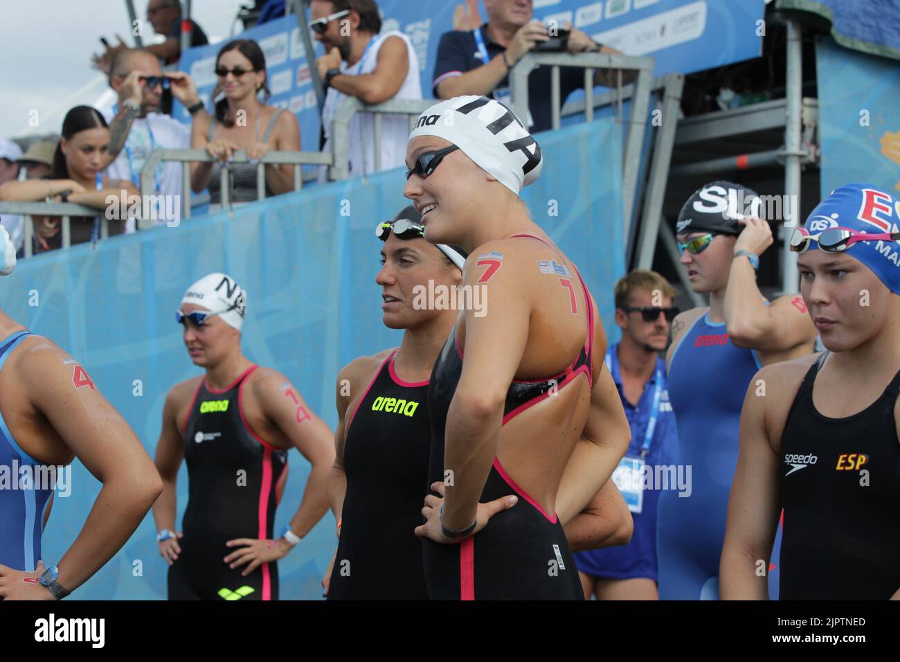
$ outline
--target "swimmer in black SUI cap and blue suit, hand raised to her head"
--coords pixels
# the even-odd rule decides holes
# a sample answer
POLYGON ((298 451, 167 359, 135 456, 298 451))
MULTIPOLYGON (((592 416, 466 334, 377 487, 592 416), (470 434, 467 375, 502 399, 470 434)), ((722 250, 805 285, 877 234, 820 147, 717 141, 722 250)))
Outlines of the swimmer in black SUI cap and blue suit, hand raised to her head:
MULTIPOLYGON (((666 358, 679 463, 692 467, 693 491, 690 498, 671 491, 660 497, 662 600, 718 599, 743 394, 760 367, 814 348, 815 328, 803 299, 784 295, 770 303, 757 286, 759 256, 772 244, 761 202, 745 186, 716 181, 691 195, 678 218, 681 265, 694 292, 709 295, 709 306, 675 318, 666 358)), ((764 568, 773 591, 777 557, 778 541, 771 566, 764 568)))

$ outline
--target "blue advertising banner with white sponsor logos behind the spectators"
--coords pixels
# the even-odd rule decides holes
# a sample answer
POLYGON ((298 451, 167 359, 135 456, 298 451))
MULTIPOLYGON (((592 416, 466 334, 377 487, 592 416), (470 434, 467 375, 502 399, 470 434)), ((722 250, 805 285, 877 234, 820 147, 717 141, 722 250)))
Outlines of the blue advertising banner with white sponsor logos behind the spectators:
MULTIPOLYGON (((454 29, 458 5, 446 0, 379 0, 378 5, 382 32, 400 30, 410 37, 419 56, 422 93, 431 96, 437 45, 441 34, 454 29)), ((534 0, 534 17, 560 27, 571 22, 626 55, 653 56, 655 75, 662 76, 759 57, 764 7, 763 0, 534 0)), ((481 16, 487 21, 483 4, 481 16)), ((303 149, 318 150, 319 109, 297 18, 288 15, 239 37, 259 42, 266 54, 270 103, 296 114, 303 149)), ((180 68, 190 74, 206 102, 216 85, 213 68, 221 45, 188 50, 181 59, 180 68)), ((317 44, 316 57, 321 54, 317 44)), ((189 122, 184 108, 175 105, 175 118, 189 122)))

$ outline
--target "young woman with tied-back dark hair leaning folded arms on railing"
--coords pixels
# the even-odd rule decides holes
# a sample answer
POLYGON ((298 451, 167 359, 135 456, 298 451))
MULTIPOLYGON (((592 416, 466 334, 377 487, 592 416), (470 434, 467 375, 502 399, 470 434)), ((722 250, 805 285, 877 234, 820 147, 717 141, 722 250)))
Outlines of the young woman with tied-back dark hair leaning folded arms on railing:
MULTIPOLYGON (((0 186, 0 201, 69 202, 105 211, 109 195, 119 199, 122 190, 126 195, 139 195, 137 187, 130 182, 101 176, 109 142, 110 131, 103 115, 88 105, 76 105, 62 122, 62 139, 53 156, 49 178, 6 182, 0 186)), ((33 219, 34 251, 58 249, 61 244, 60 217, 34 216, 33 219)), ((72 243, 98 239, 100 226, 101 216, 73 216, 72 243)), ((120 234, 123 228, 124 220, 109 222, 111 235, 120 234)))

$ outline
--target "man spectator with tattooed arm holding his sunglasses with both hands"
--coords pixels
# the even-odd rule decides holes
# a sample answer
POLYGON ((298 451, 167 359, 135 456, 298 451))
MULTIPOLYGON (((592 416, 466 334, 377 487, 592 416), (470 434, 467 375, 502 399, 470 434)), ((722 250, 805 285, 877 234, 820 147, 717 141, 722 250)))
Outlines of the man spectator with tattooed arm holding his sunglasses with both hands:
MULTIPOLYGON (((110 125, 109 166, 105 177, 124 179, 140 186, 140 171, 153 150, 187 150, 191 147, 191 127, 158 113, 164 88, 192 114, 205 113, 193 80, 181 71, 163 74, 159 62, 143 49, 122 50, 112 59, 109 83, 118 95, 112 109, 103 113, 110 125)), ((153 173, 153 190, 142 195, 185 195, 181 164, 171 161, 157 166, 153 173)), ((189 194, 188 194, 189 195, 189 194)), ((161 204, 158 209, 165 209, 161 204)), ((174 208, 180 213, 181 205, 174 208)), ((171 222, 157 213, 157 224, 171 222)), ((133 232, 134 219, 125 225, 133 232)))

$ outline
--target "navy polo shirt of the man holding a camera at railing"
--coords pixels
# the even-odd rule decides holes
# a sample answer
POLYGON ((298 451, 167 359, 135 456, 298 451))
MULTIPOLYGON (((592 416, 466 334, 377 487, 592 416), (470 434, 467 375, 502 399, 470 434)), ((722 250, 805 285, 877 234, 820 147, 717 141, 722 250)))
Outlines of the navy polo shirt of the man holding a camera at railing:
MULTIPOLYGON (((506 50, 488 35, 488 24, 482 25, 484 49, 488 60, 482 59, 482 52, 476 40, 475 31, 462 32, 454 30, 441 35, 437 45, 435 60, 435 76, 431 84, 437 98, 437 86, 450 77, 462 76, 467 71, 482 67, 506 50)), ((538 67, 528 75, 528 110, 534 120, 529 131, 549 131, 553 128, 553 106, 550 100, 550 67, 538 67)), ((566 97, 584 86, 584 69, 577 67, 560 68, 560 103, 565 104, 566 97)), ((503 78, 494 89, 494 98, 509 94, 509 77, 503 78)), ((526 122, 525 118, 519 118, 526 122)))

